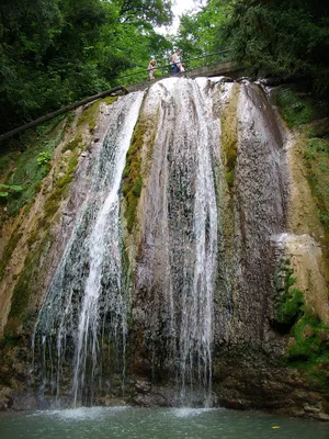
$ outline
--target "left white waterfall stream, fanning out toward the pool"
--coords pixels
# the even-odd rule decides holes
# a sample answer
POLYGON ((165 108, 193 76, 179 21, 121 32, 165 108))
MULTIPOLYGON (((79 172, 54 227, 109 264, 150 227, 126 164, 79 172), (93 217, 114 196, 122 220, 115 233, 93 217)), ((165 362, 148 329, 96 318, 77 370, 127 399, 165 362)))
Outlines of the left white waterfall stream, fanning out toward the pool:
POLYGON ((111 350, 114 342, 125 361, 128 291, 122 269, 118 190, 141 100, 143 93, 133 93, 111 106, 92 185, 35 328, 35 337, 42 337, 43 371, 49 373, 45 383, 49 381, 59 397, 66 374, 71 373, 67 370, 72 369, 75 405, 93 401, 97 380, 102 385, 100 351, 105 344, 111 350))

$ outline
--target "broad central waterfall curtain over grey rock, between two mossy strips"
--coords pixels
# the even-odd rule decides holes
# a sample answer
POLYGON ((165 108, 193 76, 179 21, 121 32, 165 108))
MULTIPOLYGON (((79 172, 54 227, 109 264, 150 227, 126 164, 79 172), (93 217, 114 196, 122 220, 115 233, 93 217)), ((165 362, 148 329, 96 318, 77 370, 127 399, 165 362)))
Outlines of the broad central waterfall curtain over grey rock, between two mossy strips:
POLYGON ((198 403, 207 403, 212 393, 217 268, 213 167, 219 147, 219 121, 212 100, 204 78, 168 79, 150 89, 144 114, 156 117, 159 128, 136 270, 136 296, 138 291, 147 296, 140 305, 137 299, 135 315, 138 318, 144 307, 152 368, 177 376, 182 404, 191 404, 194 392, 200 393, 198 403))

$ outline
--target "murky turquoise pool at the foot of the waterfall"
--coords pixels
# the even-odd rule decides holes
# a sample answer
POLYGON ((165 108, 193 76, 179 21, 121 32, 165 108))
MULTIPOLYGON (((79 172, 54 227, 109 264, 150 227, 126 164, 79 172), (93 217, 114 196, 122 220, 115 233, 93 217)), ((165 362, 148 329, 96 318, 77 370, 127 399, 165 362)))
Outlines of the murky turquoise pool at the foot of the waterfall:
POLYGON ((1 439, 329 439, 329 425, 226 409, 94 407, 0 416, 1 439))

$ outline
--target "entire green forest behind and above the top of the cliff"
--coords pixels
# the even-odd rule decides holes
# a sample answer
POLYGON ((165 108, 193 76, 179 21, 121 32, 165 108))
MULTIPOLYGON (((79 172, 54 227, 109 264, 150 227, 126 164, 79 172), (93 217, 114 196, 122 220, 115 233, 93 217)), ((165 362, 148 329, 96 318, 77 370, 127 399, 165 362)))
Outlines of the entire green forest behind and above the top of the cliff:
POLYGON ((124 82, 152 55, 166 64, 175 45, 184 58, 230 48, 251 75, 307 78, 328 95, 327 2, 195 1, 177 35, 156 32, 171 22, 171 0, 2 0, 0 133, 124 82))

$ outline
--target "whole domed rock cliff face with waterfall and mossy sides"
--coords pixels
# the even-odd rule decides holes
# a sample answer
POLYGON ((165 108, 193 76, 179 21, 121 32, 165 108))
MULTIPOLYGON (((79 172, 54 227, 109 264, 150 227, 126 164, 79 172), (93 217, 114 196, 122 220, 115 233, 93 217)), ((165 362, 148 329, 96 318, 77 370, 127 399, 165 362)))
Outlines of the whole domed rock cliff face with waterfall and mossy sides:
POLYGON ((302 135, 248 81, 171 78, 100 110, 4 234, 2 399, 124 387, 325 419, 327 232, 302 135))

